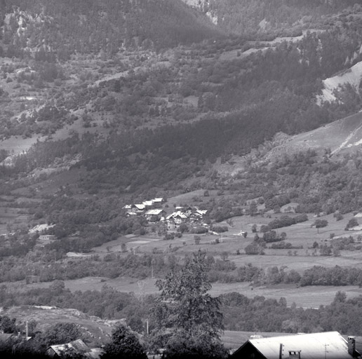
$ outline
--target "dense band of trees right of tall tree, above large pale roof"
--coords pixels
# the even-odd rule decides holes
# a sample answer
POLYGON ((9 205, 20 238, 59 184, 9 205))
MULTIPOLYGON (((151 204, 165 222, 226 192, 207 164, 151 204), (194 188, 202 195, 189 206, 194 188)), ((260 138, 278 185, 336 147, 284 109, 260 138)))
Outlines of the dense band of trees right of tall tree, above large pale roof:
POLYGON ((359 320, 362 314, 362 297, 346 299, 337 292, 330 305, 319 309, 287 306, 285 298, 267 299, 262 296, 248 298, 236 292, 222 294, 222 312, 225 329, 250 332, 328 332, 361 335, 359 320))

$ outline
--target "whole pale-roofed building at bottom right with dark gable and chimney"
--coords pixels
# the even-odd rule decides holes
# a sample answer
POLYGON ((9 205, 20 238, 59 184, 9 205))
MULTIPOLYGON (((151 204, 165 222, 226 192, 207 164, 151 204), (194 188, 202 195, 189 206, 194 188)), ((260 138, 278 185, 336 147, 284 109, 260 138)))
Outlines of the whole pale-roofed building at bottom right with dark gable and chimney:
POLYGON ((361 359, 354 337, 338 332, 295 334, 249 339, 232 354, 234 359, 361 359))

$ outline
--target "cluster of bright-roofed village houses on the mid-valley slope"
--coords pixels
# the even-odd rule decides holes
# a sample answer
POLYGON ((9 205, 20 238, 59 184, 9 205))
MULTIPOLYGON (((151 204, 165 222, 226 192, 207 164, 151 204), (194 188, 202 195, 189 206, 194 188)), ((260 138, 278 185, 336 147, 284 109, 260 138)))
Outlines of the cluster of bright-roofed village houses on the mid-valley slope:
POLYGON ((127 217, 145 216, 149 223, 164 222, 167 224, 169 231, 185 222, 200 223, 208 212, 195 206, 187 206, 175 207, 175 212, 167 215, 166 211, 161 208, 163 203, 165 203, 163 198, 154 198, 138 204, 125 205, 123 210, 126 210, 127 217))

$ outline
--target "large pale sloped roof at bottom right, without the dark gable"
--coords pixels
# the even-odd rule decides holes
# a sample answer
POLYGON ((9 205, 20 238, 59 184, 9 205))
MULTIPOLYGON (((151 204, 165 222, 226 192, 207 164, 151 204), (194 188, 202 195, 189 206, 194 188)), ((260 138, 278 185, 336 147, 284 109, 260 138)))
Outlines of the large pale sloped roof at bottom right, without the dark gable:
MULTIPOLYGON (((246 344, 248 343, 253 344, 257 351, 267 359, 279 359, 281 344, 283 344, 283 355, 288 355, 288 351, 301 351, 301 358, 303 359, 325 359, 326 353, 328 359, 352 358, 348 353, 347 340, 339 332, 249 339, 246 344)), ((242 348, 243 346, 238 351, 241 351, 242 348)))

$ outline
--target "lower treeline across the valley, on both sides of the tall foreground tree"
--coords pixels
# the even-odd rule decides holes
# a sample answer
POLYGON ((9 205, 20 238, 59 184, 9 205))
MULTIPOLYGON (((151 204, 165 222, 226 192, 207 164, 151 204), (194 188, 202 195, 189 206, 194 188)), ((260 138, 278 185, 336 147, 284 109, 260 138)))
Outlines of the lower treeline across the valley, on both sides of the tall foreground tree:
MULTIPOLYGON (((60 281, 48 288, 27 292, 1 287, 0 297, 5 306, 48 305, 74 308, 101 318, 126 318, 128 325, 140 333, 145 332, 142 320, 149 318, 156 299, 154 295, 141 298, 138 294, 117 292, 107 286, 100 291, 70 292, 60 281)), ((362 315, 361 296, 347 299, 346 294, 337 292, 330 305, 319 306, 319 309, 297 308, 294 303, 288 306, 285 298, 248 298, 236 292, 221 294, 219 299, 225 330, 289 333, 337 330, 341 334, 362 334, 358 321, 362 315)), ((150 322, 151 332, 152 327, 150 322)))

